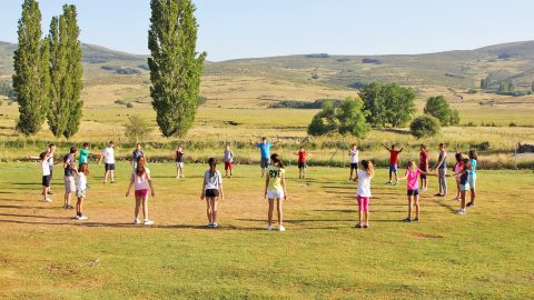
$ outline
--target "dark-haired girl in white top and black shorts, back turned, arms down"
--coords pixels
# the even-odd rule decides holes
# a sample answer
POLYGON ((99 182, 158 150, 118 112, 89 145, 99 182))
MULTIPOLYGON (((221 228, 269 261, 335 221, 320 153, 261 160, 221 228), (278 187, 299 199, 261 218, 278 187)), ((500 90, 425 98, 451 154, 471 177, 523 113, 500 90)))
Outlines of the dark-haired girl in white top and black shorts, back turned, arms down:
POLYGON ((206 199, 206 213, 208 214, 208 228, 217 228, 217 200, 224 199, 222 177, 217 171, 217 160, 210 158, 208 160, 209 170, 204 173, 202 193, 200 199, 206 199))

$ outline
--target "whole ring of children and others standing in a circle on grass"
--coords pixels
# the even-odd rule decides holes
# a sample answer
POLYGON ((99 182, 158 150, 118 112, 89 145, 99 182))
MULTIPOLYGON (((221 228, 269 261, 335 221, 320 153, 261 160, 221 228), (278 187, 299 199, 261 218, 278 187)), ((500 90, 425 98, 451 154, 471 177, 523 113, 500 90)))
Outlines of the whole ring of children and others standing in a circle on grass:
MULTIPOLYGON (((266 138, 263 138, 261 142, 258 142, 256 147, 260 149, 260 167, 261 167, 261 177, 266 178, 265 181, 265 198, 268 200, 268 216, 267 216, 267 229, 273 230, 273 214, 275 202, 277 207, 277 217, 278 217, 278 230, 285 231, 283 226, 283 200, 288 199, 286 190, 286 179, 285 179, 285 164, 278 154, 270 154, 270 148, 276 143, 267 142, 266 138)), ((108 178, 111 179, 111 183, 115 183, 115 150, 113 142, 110 141, 108 147, 101 153, 91 153, 89 151, 89 144, 83 143, 83 148, 79 151, 78 156, 78 166, 76 164, 76 156, 78 154, 78 149, 72 147, 68 154, 63 157, 63 182, 65 182, 65 209, 75 209, 71 202, 72 193, 76 193, 77 204, 76 204, 76 217, 77 220, 87 220, 88 217, 83 214, 83 199, 86 198, 87 190, 89 188, 87 183, 87 177, 89 176, 89 156, 100 157, 99 164, 105 162, 105 177, 103 184, 107 183, 108 178), (76 180, 75 180, 76 176, 76 180)), ((439 182, 439 192, 436 193, 438 197, 445 197, 447 194, 446 177, 455 177, 457 183, 457 196, 455 200, 461 200, 461 208, 456 211, 457 213, 465 213, 466 207, 475 206, 475 182, 476 182, 476 166, 477 166, 477 154, 475 150, 471 150, 468 158, 464 158, 459 152, 456 152, 456 164, 453 168, 453 173, 447 174, 447 152, 443 143, 439 144, 439 154, 437 158, 437 163, 434 168, 429 169, 429 159, 428 152, 424 144, 421 146, 419 152, 419 163, 413 160, 408 161, 405 176, 399 178, 397 176, 399 153, 403 151, 403 148, 397 150, 396 146, 390 148, 384 146, 389 151, 389 181, 387 184, 398 184, 399 181, 407 181, 407 200, 408 200, 408 214, 404 219, 406 222, 418 221, 419 220, 419 190, 426 191, 427 189, 427 177, 436 176, 438 177, 439 182), (437 170, 437 172, 436 172, 437 170), (434 171, 434 172, 433 172, 434 171), (395 182, 392 181, 393 177, 395 182), (421 184, 419 184, 421 180, 421 184), (471 191, 471 202, 466 203, 466 193, 471 191), (413 218, 413 207, 415 206, 415 218, 413 218)), ((50 144, 48 149, 42 152, 38 159, 42 170, 42 194, 44 202, 51 202, 49 194, 52 194, 50 191, 50 182, 52 178, 53 166, 58 162, 55 162, 53 156, 56 151, 56 146, 50 144)), ((370 192, 370 181, 375 176, 375 169, 370 160, 359 161, 359 151, 356 144, 352 144, 349 149, 349 161, 350 161, 350 177, 349 181, 357 182, 356 198, 358 203, 358 223, 357 228, 369 228, 369 201, 372 198, 370 192)), ((306 177, 307 168, 307 156, 304 147, 300 147, 299 151, 295 152, 295 156, 298 157, 298 169, 299 178, 303 179, 306 177)), ((176 151, 176 168, 177 168, 177 178, 184 178, 184 157, 185 151, 182 147, 178 147, 176 151)), ((29 159, 37 159, 36 157, 28 156, 29 159)), ((225 163, 226 177, 233 177, 233 161, 234 152, 231 151, 229 144, 226 146, 224 151, 222 160, 225 163)), ((147 168, 147 157, 142 151, 141 144, 138 143, 136 149, 131 154, 131 164, 134 167, 132 173, 130 176, 130 183, 126 197, 130 196, 130 191, 134 188, 136 206, 135 206, 135 224, 140 224, 139 213, 142 208, 144 221, 146 226, 154 224, 148 218, 148 196, 155 196, 155 189, 152 180, 150 177, 150 170, 147 168)), ((217 170, 218 160, 216 158, 210 158, 208 160, 209 169, 204 173, 204 182, 200 199, 206 200, 207 204, 207 218, 208 227, 217 228, 217 201, 218 199, 224 198, 222 189, 222 176, 217 170)))

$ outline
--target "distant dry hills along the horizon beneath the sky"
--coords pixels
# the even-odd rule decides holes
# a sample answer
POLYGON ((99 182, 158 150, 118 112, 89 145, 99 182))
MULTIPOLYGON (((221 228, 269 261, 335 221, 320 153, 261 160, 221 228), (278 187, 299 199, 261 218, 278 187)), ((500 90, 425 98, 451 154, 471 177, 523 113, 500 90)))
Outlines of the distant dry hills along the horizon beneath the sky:
MULTIPOLYGON (((0 79, 12 72, 16 46, 0 42, 0 79)), ((147 57, 83 44, 89 83, 146 82, 147 57), (126 79, 127 78, 127 79, 126 79)), ((327 53, 207 62, 205 74, 255 76, 294 82, 360 88, 372 81, 405 86, 477 88, 481 79, 514 80, 518 89, 534 82, 534 41, 475 50, 403 56, 334 56, 327 53)))

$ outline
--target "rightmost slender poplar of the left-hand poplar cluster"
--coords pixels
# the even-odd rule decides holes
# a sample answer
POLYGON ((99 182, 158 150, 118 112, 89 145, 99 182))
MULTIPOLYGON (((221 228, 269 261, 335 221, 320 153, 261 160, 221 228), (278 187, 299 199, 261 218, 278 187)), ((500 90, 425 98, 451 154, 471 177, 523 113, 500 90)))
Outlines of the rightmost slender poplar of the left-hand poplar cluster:
POLYGON ((83 101, 81 100, 82 74, 80 28, 78 27, 78 12, 76 6, 63 6, 63 17, 67 28, 67 74, 65 97, 69 111, 69 120, 63 136, 69 139, 78 132, 81 121, 83 101))

